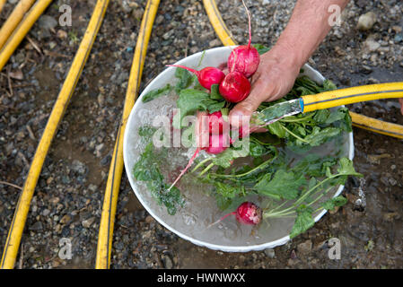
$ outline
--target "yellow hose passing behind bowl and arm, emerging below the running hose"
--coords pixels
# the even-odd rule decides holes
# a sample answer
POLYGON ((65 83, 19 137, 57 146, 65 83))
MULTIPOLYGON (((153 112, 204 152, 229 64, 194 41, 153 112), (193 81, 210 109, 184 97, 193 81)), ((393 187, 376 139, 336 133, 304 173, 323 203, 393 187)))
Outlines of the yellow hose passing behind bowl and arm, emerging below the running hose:
MULTIPOLYGON (((221 14, 217 9, 215 0, 203 0, 203 4, 205 5, 208 19, 210 19, 210 22, 213 25, 213 28, 215 29, 215 33, 218 35, 218 38, 221 39, 223 45, 224 46, 237 45, 235 39, 233 39, 232 37, 231 32, 225 26, 225 23, 221 18, 221 14)), ((365 117, 360 114, 356 114, 352 111, 350 111, 350 116, 353 120, 353 126, 362 127, 382 135, 390 135, 401 138, 400 135, 402 134, 403 126, 383 122, 379 119, 375 119, 372 117, 365 117)))

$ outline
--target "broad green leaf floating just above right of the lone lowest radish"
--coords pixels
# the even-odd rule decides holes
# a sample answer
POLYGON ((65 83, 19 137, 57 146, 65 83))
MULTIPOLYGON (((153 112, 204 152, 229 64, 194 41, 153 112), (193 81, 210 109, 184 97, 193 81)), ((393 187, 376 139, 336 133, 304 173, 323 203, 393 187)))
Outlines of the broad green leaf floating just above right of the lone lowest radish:
POLYGON ((273 178, 267 174, 260 179, 255 188, 259 195, 269 196, 276 200, 295 199, 300 194, 300 187, 306 184, 306 179, 295 175, 293 171, 277 170, 273 178))

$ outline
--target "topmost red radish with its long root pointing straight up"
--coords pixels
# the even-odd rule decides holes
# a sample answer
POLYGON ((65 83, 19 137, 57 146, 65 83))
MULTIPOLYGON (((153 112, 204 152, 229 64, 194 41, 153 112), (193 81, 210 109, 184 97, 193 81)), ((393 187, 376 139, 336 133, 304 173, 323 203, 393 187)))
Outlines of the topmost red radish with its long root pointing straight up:
POLYGON ((260 57, 258 56, 258 50, 250 46, 250 42, 252 40, 250 12, 243 0, 242 4, 246 9, 246 13, 248 13, 250 39, 248 46, 242 45, 232 50, 230 57, 228 57, 228 69, 230 72, 241 72, 245 77, 249 78, 252 74, 255 74, 256 70, 258 70, 260 57))

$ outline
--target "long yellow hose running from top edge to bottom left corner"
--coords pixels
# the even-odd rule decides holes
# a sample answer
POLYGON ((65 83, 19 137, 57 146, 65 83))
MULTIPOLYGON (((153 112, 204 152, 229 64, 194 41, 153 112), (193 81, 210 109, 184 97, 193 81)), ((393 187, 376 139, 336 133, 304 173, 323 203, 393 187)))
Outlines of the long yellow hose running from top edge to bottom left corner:
POLYGON ((88 24, 87 30, 83 36, 80 47, 75 54, 73 64, 70 71, 66 76, 65 83, 57 97, 56 103, 53 106, 50 117, 48 118, 47 126, 40 138, 37 151, 33 157, 31 168, 28 177, 22 190, 22 194, 18 200, 13 221, 8 232, 8 236, 4 245, 4 252, 0 267, 2 269, 11 269, 14 266, 15 258, 17 257, 18 248, 22 238, 22 230, 24 228, 27 214, 30 209, 31 199, 38 182, 40 170, 42 169, 43 162, 50 143, 57 132, 57 126, 60 123, 63 115, 65 114, 68 102, 74 92, 74 88, 78 79, 83 71, 83 66, 90 54, 92 44, 96 38, 98 30, 100 30, 101 22, 109 0, 98 0, 95 5, 94 12, 92 13, 91 20, 88 24))

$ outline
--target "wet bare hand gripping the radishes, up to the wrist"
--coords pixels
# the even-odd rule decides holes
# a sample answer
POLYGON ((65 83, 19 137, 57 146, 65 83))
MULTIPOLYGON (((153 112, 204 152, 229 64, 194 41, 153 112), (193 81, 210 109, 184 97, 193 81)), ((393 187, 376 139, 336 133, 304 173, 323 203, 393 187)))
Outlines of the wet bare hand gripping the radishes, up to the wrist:
POLYGON ((250 95, 230 112, 232 126, 240 126, 241 117, 250 117, 263 101, 284 97, 293 88, 300 68, 286 49, 274 47, 263 54, 258 70, 251 78, 250 95))

